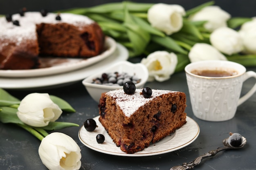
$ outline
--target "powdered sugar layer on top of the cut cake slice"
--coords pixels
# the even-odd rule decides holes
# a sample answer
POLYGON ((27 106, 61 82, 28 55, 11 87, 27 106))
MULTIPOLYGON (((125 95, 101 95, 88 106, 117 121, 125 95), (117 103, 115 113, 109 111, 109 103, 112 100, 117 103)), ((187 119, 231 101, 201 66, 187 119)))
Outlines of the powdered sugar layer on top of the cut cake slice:
POLYGON ((140 95, 140 92, 142 92, 142 89, 136 89, 133 95, 127 95, 124 93, 123 89, 118 89, 115 91, 110 91, 106 94, 116 98, 116 104, 123 110, 127 117, 130 117, 139 107, 153 100, 155 97, 163 94, 173 93, 175 91, 152 89, 152 97, 150 98, 145 98, 142 94, 140 95))

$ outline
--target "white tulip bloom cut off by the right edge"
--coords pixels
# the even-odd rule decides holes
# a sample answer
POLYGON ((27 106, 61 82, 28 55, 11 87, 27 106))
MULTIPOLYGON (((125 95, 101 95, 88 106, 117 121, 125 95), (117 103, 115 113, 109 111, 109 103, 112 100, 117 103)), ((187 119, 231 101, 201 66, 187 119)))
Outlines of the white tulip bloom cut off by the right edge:
POLYGON ((245 22, 239 31, 244 45, 244 52, 256 54, 256 20, 245 22))

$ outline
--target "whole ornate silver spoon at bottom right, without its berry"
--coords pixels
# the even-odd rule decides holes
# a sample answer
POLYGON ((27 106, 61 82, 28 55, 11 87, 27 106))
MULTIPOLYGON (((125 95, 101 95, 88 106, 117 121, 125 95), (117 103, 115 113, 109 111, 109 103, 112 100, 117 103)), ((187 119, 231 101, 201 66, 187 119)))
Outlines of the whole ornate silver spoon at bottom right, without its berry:
POLYGON ((245 139, 245 137, 243 137, 243 142, 239 147, 232 147, 229 145, 228 139, 229 138, 226 138, 222 141, 224 146, 217 148, 216 150, 211 150, 211 151, 205 153, 204 155, 195 158, 193 161, 191 161, 189 163, 182 163, 182 165, 174 166, 170 170, 187 170, 187 169, 194 168, 194 166, 197 166, 199 163, 201 163, 202 159, 204 159, 204 158, 212 157, 212 156, 216 155, 216 153, 218 153, 222 150, 242 148, 246 144, 246 139, 245 139))

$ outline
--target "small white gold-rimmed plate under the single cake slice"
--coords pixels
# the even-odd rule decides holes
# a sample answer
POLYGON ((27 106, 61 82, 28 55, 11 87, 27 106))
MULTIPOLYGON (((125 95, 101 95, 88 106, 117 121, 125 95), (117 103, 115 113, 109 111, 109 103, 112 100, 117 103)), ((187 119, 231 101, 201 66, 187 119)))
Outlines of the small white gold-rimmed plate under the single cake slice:
POLYGON ((94 120, 96 121, 98 127, 93 132, 88 132, 82 126, 78 133, 80 141, 92 150, 96 150, 98 152, 106 153, 109 155, 125 157, 143 157, 173 152, 191 144, 198 137, 200 132, 198 124, 190 117, 186 117, 186 124, 177 129, 170 136, 165 137, 155 144, 151 144, 144 150, 134 154, 127 154, 121 151, 120 148, 117 147, 116 144, 112 141, 105 128, 99 122, 99 116, 94 117, 94 120), (96 135, 98 134, 103 134, 105 136, 105 141, 103 144, 97 143, 96 135))

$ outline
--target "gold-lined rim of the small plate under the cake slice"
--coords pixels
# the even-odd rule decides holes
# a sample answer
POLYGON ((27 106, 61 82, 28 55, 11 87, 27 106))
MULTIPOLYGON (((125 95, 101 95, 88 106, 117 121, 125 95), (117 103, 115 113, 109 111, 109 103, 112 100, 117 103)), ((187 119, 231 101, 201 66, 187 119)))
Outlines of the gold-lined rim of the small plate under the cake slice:
MULTIPOLYGON (((93 119, 99 119, 99 116, 97 116, 97 117, 94 117, 93 119)), ((85 146, 87 146, 88 148, 90 148, 90 149, 92 149, 92 150, 95 150, 95 151, 97 151, 97 152, 101 152, 101 153, 105 153, 105 154, 108 154, 108 155, 116 155, 116 156, 124 156, 124 157, 144 157, 144 156, 153 156, 153 155, 162 155, 162 154, 164 154, 164 153, 168 153, 168 152, 173 152, 173 151, 175 151, 175 150, 178 150, 178 149, 181 149, 181 148, 184 148, 184 147, 186 147, 186 146, 188 146, 189 144, 191 144, 193 141, 195 141, 195 139, 197 139, 197 137, 199 136, 199 134, 200 134, 200 127, 199 127, 199 125, 197 124, 197 122, 194 120, 194 119, 192 119, 191 117, 188 117, 188 116, 186 116, 186 121, 187 121, 187 123, 189 122, 189 123, 193 123, 193 126, 197 126, 197 132, 196 132, 196 134, 195 134, 195 136, 193 136, 193 138, 191 138, 189 141, 187 141, 186 143, 184 143, 184 144, 182 144, 182 145, 180 145, 180 146, 177 146, 177 147, 175 147, 175 148, 169 148, 169 149, 166 149, 166 150, 162 150, 162 151, 157 151, 157 152, 151 152, 151 153, 139 153, 139 152, 136 152, 136 153, 134 153, 134 154, 127 154, 127 153, 119 153, 119 152, 111 152, 111 151, 107 151, 107 150, 102 150, 102 149, 99 149, 99 148, 95 148, 94 146, 90 146, 89 144, 87 144, 85 141, 83 141, 83 139, 81 138, 81 131, 82 131, 82 129, 84 129, 84 126, 81 126, 81 128, 79 129, 79 132, 78 132, 78 137, 79 137, 79 140, 81 141, 81 143, 83 144, 83 145, 85 145, 85 146)), ((187 124, 186 123, 186 124, 187 124)), ((185 124, 185 125, 186 125, 185 124)), ((185 126, 184 125, 184 126, 185 126)), ((99 125, 98 125, 99 126, 99 125)), ((101 124, 100 124, 100 126, 102 126, 101 124)), ((102 126, 103 127, 103 126, 102 126)), ((177 132, 177 131, 179 131, 179 130, 182 130, 182 128, 180 128, 180 129, 177 129, 176 131, 175 131, 175 133, 177 132)), ((86 131, 86 130, 84 130, 84 131, 86 131)), ((175 136, 174 136, 175 137, 175 136)), ((173 138, 174 138, 173 137, 173 138)), ((96 139, 95 139, 96 140, 96 139)), ((169 141, 171 141, 171 140, 169 140, 169 141)), ((168 141, 167 141, 168 142, 168 141)), ((113 142, 114 143, 114 142, 113 142)), ((99 146, 100 146, 101 144, 99 144, 99 146)), ((154 146, 152 146, 152 147, 154 147, 154 146)), ((117 148, 119 148, 119 147, 117 147, 117 148)), ((149 149, 149 147, 148 148, 145 148, 144 150, 148 150, 149 149)))

